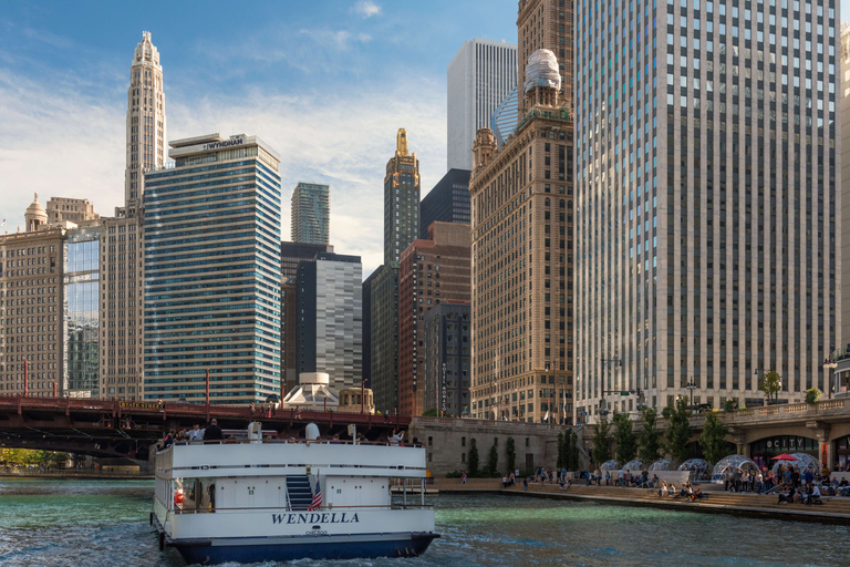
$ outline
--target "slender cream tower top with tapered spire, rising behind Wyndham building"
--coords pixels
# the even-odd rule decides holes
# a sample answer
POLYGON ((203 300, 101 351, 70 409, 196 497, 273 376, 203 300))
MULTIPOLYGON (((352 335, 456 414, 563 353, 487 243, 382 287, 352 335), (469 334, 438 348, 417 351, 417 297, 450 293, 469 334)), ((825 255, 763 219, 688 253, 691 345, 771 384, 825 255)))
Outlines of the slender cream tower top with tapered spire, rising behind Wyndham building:
MULTIPOLYGON (((165 94, 159 51, 151 32, 133 53, 127 90, 127 168, 124 173, 124 206, 134 212, 142 204, 144 173, 165 165, 165 94)), ((126 216, 121 214, 118 216, 126 216)))

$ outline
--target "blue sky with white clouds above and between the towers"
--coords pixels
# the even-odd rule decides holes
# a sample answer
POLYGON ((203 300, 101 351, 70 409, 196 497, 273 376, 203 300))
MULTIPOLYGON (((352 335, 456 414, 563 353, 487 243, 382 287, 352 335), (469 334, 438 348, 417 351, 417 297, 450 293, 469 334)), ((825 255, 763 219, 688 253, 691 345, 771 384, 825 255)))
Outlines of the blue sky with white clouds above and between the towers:
MULTIPOLYGON (((849 0, 850 1, 850 0, 849 0)), ((124 198, 127 87, 142 32, 159 50, 166 137, 256 134, 281 154, 282 238, 299 181, 331 186, 331 244, 383 259, 383 178, 400 127, 424 197, 446 172, 446 69, 464 41, 516 43, 516 0, 6 0, 0 219, 33 194, 124 198)))

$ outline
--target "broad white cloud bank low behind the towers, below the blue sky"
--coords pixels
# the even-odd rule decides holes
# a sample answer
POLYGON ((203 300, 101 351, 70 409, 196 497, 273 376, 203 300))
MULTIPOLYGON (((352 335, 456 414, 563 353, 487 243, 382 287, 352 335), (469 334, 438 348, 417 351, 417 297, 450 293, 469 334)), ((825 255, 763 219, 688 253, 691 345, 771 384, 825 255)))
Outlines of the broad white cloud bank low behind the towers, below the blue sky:
MULTIPOLYGON (((110 92, 104 89, 103 92, 110 92)), ((252 89, 199 100, 166 91, 168 140, 219 132, 257 134, 281 154, 281 236, 299 181, 331 185, 331 244, 362 257, 364 276, 383 262, 383 179, 397 128, 421 161, 425 195, 445 173, 444 87, 422 76, 393 85, 283 95, 252 89)), ((0 218, 14 230, 32 193, 89 198, 101 215, 123 200, 125 113, 120 100, 86 99, 0 71, 0 218)))

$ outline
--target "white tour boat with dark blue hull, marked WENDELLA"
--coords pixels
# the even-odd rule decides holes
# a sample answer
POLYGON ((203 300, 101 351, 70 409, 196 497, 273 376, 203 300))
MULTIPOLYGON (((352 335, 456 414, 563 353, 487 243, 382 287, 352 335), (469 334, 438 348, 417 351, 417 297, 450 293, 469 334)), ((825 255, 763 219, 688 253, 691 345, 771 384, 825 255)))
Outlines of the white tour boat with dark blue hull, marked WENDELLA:
MULTIPOLYGON (((439 537, 425 505, 425 450, 384 443, 177 442, 156 455, 151 520, 189 564, 415 557, 439 537), (391 484, 419 480, 421 499, 391 484)), ((406 486, 406 483, 404 483, 406 486)))

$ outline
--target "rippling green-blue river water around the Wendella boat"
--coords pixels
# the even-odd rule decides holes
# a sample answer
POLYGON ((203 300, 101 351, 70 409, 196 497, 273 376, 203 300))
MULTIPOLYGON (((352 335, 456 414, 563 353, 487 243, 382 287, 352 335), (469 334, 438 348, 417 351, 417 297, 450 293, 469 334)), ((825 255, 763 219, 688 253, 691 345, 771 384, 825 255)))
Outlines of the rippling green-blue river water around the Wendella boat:
MULTIPOLYGON (((0 478, 0 566, 184 565, 148 526, 153 481, 0 478)), ((846 566, 843 526, 499 495, 440 495, 416 559, 298 567, 846 566)), ((272 567, 272 564, 263 564, 272 567)))

